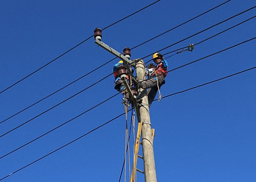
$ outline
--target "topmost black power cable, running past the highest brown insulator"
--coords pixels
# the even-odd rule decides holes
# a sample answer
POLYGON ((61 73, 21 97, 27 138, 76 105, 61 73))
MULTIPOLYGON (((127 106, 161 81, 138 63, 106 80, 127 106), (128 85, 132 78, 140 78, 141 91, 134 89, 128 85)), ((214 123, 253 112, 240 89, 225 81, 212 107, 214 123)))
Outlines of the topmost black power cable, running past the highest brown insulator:
MULTIPOLYGON (((135 15, 136 13, 142 11, 143 9, 146 9, 146 8, 150 7, 151 5, 153 5, 153 4, 155 4, 155 3, 158 3, 159 1, 161 1, 161 0, 157 0, 157 1, 155 1, 154 3, 151 3, 150 5, 147 5, 146 7, 142 8, 142 9, 140 9, 140 10, 134 12, 134 13, 132 13, 131 15, 128 15, 128 16, 126 16, 126 17, 124 17, 124 18, 122 18, 122 19, 116 21, 115 23, 112 23, 112 24, 108 25, 107 27, 103 28, 102 30, 107 29, 107 28, 113 26, 114 24, 119 23, 120 21, 123 21, 124 19, 127 19, 128 17, 130 17, 130 16, 132 16, 132 15, 135 15)), ((64 55, 67 54, 68 52, 74 50, 76 47, 80 46, 81 44, 83 44, 85 41, 89 40, 89 39, 90 39, 91 37, 93 37, 93 36, 94 36, 94 35, 91 35, 90 37, 88 37, 87 39, 83 40, 82 42, 80 42, 80 43, 77 44, 76 46, 72 47, 72 48, 69 49, 68 51, 64 52, 63 54, 61 54, 61 55, 58 56, 57 58, 51 60, 49 63, 45 64, 44 66, 42 66, 42 67, 40 67, 40 68, 38 68, 37 70, 35 70, 35 71, 32 72, 31 74, 29 74, 29 75, 25 76, 24 78, 20 79, 18 82, 12 84, 11 86, 5 88, 4 90, 2 90, 2 91, 0 92, 0 94, 3 93, 4 91, 8 90, 9 88, 15 86, 16 84, 18 84, 18 83, 21 82, 22 80, 25 80, 25 79, 28 78, 29 76, 33 75, 35 72, 41 70, 42 68, 46 67, 46 66, 49 65, 50 63, 52 63, 52 62, 54 62, 55 60, 59 59, 60 57, 64 56, 64 55)))

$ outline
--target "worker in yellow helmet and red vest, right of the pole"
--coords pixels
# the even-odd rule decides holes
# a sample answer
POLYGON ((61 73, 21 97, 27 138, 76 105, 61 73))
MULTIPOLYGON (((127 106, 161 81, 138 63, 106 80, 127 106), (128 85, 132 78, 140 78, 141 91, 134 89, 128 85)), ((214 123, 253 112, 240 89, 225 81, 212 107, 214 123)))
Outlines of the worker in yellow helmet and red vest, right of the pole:
POLYGON ((148 106, 150 106, 155 99, 155 95, 157 95, 158 87, 159 89, 163 84, 165 84, 165 77, 167 76, 167 68, 168 63, 163 58, 162 54, 155 53, 153 55, 153 61, 157 66, 151 66, 153 68, 153 74, 151 79, 146 80, 144 82, 139 82, 137 84, 138 88, 146 89, 148 88, 147 96, 148 96, 148 106), (156 77, 154 77, 156 76, 156 77))

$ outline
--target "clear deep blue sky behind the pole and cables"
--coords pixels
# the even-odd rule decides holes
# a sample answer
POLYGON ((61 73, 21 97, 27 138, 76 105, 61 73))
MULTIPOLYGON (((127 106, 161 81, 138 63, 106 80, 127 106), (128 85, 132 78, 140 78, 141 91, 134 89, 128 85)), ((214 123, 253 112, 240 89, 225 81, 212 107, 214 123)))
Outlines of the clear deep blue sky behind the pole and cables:
MULTIPOLYGON (((104 30, 102 41, 122 52, 123 48, 134 47, 224 1, 162 0, 104 30)), ((1 1, 0 91, 93 35, 95 27, 104 28, 153 2, 152 0, 1 1)), ((131 59, 153 54, 255 5, 254 0, 232 0, 132 50, 131 59)), ((189 43, 195 44, 255 14, 256 8, 161 53, 165 54, 185 47, 189 43)), ((169 70, 251 39, 255 35, 256 19, 252 19, 195 46, 193 52, 183 52, 167 59, 169 70)), ((255 67, 255 44, 256 40, 252 40, 170 72, 166 84, 161 88, 162 96, 255 67)), ((0 120, 30 106, 113 58, 113 55, 98 47, 91 38, 0 94, 0 120)), ((144 60, 148 61, 150 58, 144 60)), ((0 124, 0 134, 110 74, 113 64, 117 61, 103 66, 65 90, 0 124)), ((256 70, 251 70, 152 104, 150 116, 152 128, 155 128, 156 132, 154 153, 158 181, 255 181, 255 77, 256 70)), ((113 76, 103 80, 1 137, 0 155, 18 148, 116 94, 113 80, 113 76)), ((121 99, 121 95, 118 95, 58 130, 0 159, 0 178, 123 113, 121 99)), ((124 153, 125 117, 122 116, 3 181, 118 181, 124 153)), ((143 169, 141 160, 138 162, 138 167, 143 169)), ((142 174, 138 173, 137 181, 144 181, 142 174)))

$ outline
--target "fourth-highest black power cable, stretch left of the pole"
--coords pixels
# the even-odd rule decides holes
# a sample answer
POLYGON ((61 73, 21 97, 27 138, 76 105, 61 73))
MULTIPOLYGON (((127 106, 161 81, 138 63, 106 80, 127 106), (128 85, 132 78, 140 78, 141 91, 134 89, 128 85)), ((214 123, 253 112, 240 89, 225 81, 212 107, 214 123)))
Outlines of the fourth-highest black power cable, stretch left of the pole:
POLYGON ((118 94, 120 94, 120 93, 121 93, 121 92, 119 92, 119 93, 117 93, 117 94, 115 94, 115 95, 111 96, 110 98, 108 98, 108 99, 106 99, 106 100, 102 101, 101 103, 97 104, 96 106, 93 106, 93 107, 91 107, 90 109, 88 109, 88 110, 86 110, 86 111, 82 112, 81 114, 79 114, 79 115, 75 116, 74 118, 69 119, 69 120, 68 120, 68 121, 66 121, 65 123, 60 124, 59 126, 57 126, 57 127, 53 128, 52 130, 50 130, 50 131, 48 131, 48 132, 46 132, 46 133, 44 133, 44 134, 40 135, 39 137, 37 137, 37 138, 35 138, 35 139, 31 140, 30 142, 27 142, 26 144, 24 144, 24 145, 22 145, 22 146, 18 147, 17 149, 12 150, 11 152, 9 152, 9 153, 7 153, 7 154, 5 154, 5 155, 1 156, 1 157, 0 157, 0 159, 1 159, 1 158, 6 157, 7 155, 9 155, 9 154, 11 154, 11 153, 14 153, 15 151, 17 151, 17 150, 19 150, 19 149, 21 149, 21 148, 23 148, 23 147, 25 147, 25 146, 27 146, 27 145, 29 145, 30 143, 32 143, 32 142, 34 142, 34 141, 36 141, 36 140, 37 140, 37 139, 39 139, 39 138, 44 137, 45 135, 49 134, 50 132, 52 132, 52 131, 56 130, 57 128, 59 128, 59 127, 61 127, 61 126, 63 126, 64 124, 67 124, 67 123, 71 122, 72 120, 74 120, 74 119, 78 118, 79 116, 82 116, 82 115, 83 115, 83 114, 85 114, 86 112, 89 112, 90 110, 93 110, 95 107, 98 107, 99 105, 101 105, 101 104, 103 104, 103 103, 107 102, 108 100, 112 99, 113 97, 117 96, 117 95, 118 95, 118 94))

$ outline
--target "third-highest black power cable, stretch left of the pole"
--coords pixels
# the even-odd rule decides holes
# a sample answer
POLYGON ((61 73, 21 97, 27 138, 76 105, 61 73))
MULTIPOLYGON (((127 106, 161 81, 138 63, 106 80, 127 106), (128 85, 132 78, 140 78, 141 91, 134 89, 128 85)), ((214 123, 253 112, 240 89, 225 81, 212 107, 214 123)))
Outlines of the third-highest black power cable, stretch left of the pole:
POLYGON ((33 119, 37 118, 38 116, 41 116, 42 114, 45 114, 46 112, 48 112, 48 111, 52 110, 53 108, 55 108, 55 107, 59 106, 60 104, 62 104, 62 103, 64 103, 64 102, 66 102, 67 100, 69 100, 69 99, 73 98, 74 96, 76 96, 76 95, 78 95, 78 94, 82 93, 83 91, 87 90, 88 88, 90 88, 90 87, 94 86, 95 84, 97 84, 97 83, 101 82, 102 80, 104 80, 104 79, 108 78, 108 77, 109 77, 110 75, 112 75, 112 74, 113 74, 113 73, 111 73, 111 74, 109 74, 109 75, 105 76, 104 78, 100 79, 99 81, 95 82, 94 84, 91 84, 89 87, 84 88, 83 90, 81 90, 80 92, 76 93, 75 95, 72 95, 71 97, 69 97, 69 98, 67 98, 67 99, 63 100, 63 101, 62 101, 62 102, 60 102, 59 104, 56 104, 55 106, 53 106, 53 107, 49 108, 48 110, 46 110, 46 111, 44 111, 44 112, 41 112, 41 114, 38 114, 38 115, 37 115, 37 116, 35 116, 34 118, 29 119, 29 120, 27 120, 26 122, 24 122, 24 123, 20 124, 19 126, 17 126, 17 127, 13 128, 13 129, 9 130, 8 132, 6 132, 6 133, 2 134, 2 135, 0 136, 0 138, 1 138, 1 137, 3 137, 4 135, 6 135, 6 134, 8 134, 8 133, 10 133, 10 132, 12 132, 12 131, 14 131, 14 130, 16 130, 17 128, 19 128, 19 127, 23 126, 24 124, 26 124, 26 123, 28 123, 28 122, 32 121, 33 119))

